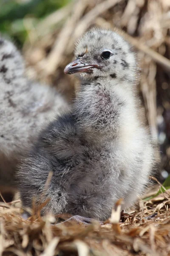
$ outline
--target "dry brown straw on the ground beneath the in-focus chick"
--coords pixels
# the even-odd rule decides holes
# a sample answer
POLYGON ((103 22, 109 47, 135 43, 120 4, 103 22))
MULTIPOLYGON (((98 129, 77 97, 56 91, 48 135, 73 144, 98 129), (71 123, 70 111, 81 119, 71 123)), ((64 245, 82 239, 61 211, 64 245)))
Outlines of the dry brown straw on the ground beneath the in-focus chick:
POLYGON ((28 220, 23 209, 0 204, 0 255, 18 256, 130 256, 170 255, 170 193, 144 202, 122 213, 119 204, 102 226, 74 222, 58 224, 58 218, 40 217, 39 211, 28 220), (117 218, 118 217, 118 218, 117 218))

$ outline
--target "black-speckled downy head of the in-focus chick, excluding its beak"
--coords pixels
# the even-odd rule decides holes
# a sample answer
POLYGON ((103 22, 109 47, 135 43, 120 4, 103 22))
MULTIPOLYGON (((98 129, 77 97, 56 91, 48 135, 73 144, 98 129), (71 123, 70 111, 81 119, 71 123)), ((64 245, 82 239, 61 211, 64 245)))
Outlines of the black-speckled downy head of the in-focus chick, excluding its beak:
MULTIPOLYGON (((77 42, 75 57, 81 64, 94 65, 81 72, 84 79, 109 77, 133 82, 136 59, 130 45, 121 35, 110 30, 90 29, 77 42)), ((76 68, 76 66, 74 66, 76 68)))

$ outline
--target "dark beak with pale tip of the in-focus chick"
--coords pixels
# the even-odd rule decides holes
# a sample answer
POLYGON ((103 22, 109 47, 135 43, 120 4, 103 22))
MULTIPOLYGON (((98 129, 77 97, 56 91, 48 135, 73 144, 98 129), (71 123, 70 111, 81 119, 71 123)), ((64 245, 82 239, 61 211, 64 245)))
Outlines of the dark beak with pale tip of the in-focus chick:
POLYGON ((100 68, 99 65, 97 64, 84 64, 83 62, 80 61, 80 58, 77 58, 75 61, 72 61, 65 67, 64 73, 69 75, 78 73, 78 72, 91 73, 92 71, 91 68, 93 67, 100 68))

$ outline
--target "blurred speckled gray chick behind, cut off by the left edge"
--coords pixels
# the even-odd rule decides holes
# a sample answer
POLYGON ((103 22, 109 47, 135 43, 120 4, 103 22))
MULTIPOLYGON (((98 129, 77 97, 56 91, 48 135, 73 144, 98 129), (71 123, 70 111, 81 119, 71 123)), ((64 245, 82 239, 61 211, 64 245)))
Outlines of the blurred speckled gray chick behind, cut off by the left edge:
MULTIPOLYGON (((55 90, 28 80, 24 61, 10 41, 0 36, 0 191, 14 186, 20 157, 45 123, 68 108, 55 90)), ((11 188, 10 188, 11 189, 11 188)))

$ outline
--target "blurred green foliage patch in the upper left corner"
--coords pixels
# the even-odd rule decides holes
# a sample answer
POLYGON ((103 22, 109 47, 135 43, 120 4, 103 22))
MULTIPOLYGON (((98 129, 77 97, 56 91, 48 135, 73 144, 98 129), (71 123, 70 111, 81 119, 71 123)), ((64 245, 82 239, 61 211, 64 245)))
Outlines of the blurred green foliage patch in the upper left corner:
POLYGON ((71 0, 0 0, 0 32, 22 47, 30 26, 36 26, 51 12, 71 0), (27 21, 27 22, 26 22, 27 21))

